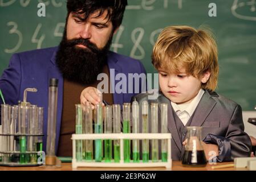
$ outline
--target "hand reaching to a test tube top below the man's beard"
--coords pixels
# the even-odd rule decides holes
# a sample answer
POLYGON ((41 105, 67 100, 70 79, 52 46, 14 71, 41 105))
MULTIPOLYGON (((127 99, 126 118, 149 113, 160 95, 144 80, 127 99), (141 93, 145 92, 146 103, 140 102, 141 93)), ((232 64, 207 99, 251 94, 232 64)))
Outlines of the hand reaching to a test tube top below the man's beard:
POLYGON ((92 109, 95 108, 95 105, 100 102, 100 91, 92 86, 88 86, 84 89, 80 96, 80 102, 83 105, 86 105, 86 102, 90 102, 92 104, 92 109))

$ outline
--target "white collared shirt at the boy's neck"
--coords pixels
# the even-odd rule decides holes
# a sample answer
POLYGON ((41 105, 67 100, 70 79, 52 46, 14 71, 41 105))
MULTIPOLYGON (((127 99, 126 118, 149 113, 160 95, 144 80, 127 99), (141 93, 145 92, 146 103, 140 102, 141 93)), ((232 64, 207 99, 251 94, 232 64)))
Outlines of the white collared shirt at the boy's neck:
POLYGON ((176 104, 172 101, 170 101, 170 104, 172 104, 173 110, 178 115, 180 120, 182 121, 183 125, 186 126, 186 123, 188 123, 189 118, 194 113, 194 110, 196 110, 196 107, 198 103, 200 102, 202 95, 204 95, 205 90, 200 89, 197 96, 193 98, 192 102, 189 104, 176 104))

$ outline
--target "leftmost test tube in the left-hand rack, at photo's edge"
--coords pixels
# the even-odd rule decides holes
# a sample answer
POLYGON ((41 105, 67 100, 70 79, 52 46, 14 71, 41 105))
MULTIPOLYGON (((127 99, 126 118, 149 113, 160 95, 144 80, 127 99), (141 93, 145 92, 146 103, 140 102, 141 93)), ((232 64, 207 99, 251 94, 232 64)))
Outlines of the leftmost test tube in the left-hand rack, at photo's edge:
MULTIPOLYGON (((1 121, 2 121, 2 134, 10 134, 10 106, 7 104, 1 105, 1 121)), ((10 152, 10 136, 2 136, 2 150, 10 152)), ((3 163, 10 162, 9 154, 3 154, 3 163)))

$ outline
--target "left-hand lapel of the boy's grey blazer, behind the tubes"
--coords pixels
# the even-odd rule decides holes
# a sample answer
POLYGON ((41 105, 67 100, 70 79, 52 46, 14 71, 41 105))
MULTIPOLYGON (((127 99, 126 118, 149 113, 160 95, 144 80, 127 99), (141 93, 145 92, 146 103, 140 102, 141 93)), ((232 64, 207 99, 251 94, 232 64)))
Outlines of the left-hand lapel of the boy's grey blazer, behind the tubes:
POLYGON ((173 116, 172 105, 170 105, 170 101, 168 100, 168 98, 163 96, 161 93, 160 93, 160 96, 157 98, 157 102, 158 102, 159 106, 161 103, 168 104, 168 130, 172 134, 172 138, 173 138, 176 146, 178 147, 178 150, 181 151, 182 142, 178 135, 178 130, 176 127, 174 116, 173 116))

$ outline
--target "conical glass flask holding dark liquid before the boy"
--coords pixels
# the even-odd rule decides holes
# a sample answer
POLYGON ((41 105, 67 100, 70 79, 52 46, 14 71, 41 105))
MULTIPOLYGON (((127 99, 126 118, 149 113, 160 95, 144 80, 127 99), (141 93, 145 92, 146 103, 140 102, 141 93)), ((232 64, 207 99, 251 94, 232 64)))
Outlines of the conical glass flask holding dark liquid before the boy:
POLYGON ((206 158, 204 148, 202 147, 201 130, 202 127, 189 126, 186 127, 187 143, 185 152, 182 157, 182 165, 188 167, 204 167, 206 166, 206 158))

